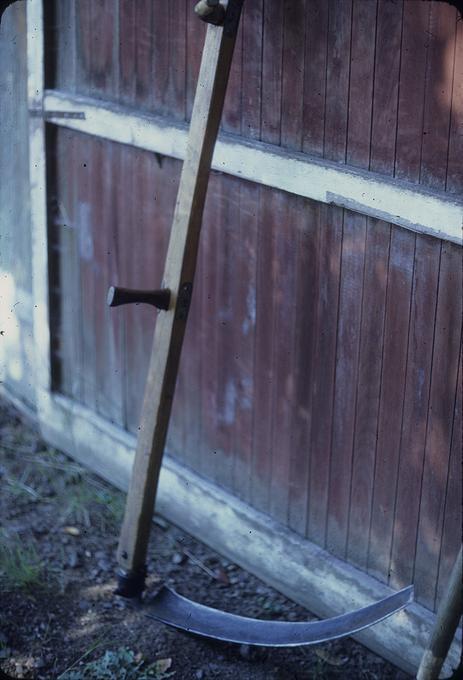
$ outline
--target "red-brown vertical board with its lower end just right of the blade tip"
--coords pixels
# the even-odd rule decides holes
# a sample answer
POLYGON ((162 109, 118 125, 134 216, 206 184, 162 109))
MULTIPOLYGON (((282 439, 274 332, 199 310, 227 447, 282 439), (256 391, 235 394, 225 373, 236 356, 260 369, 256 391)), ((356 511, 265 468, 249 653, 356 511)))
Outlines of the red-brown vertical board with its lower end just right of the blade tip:
POLYGON ((442 244, 428 427, 415 559, 416 597, 434 607, 461 344, 461 248, 442 244))

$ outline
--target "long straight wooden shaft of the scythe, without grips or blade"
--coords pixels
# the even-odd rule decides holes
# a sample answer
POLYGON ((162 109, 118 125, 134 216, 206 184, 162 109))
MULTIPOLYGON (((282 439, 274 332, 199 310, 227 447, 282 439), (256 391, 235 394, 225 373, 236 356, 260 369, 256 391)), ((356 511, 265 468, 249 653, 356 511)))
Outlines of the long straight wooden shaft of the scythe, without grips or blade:
POLYGON ((180 352, 196 270, 199 233, 214 144, 222 116, 242 0, 231 0, 223 26, 209 25, 201 61, 190 134, 175 205, 162 280, 170 292, 159 314, 122 526, 119 594, 143 589, 151 518, 169 425, 180 352))

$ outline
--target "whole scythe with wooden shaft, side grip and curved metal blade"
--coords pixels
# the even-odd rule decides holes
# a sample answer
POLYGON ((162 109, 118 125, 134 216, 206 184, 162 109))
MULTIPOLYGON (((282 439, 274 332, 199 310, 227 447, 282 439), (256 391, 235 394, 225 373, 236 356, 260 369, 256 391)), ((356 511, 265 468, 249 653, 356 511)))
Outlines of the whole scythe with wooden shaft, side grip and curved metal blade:
MULTIPOLYGON (((164 453, 180 353, 193 290, 199 234, 212 154, 227 88, 243 0, 201 0, 196 12, 208 22, 187 150, 172 222, 162 288, 137 291, 111 287, 108 304, 145 302, 158 316, 140 419, 135 460, 118 546, 118 589, 140 597, 146 578, 146 554, 164 453)), ((236 643, 264 646, 308 645, 371 626, 407 606, 410 586, 379 602, 315 622, 262 621, 236 616, 192 602, 163 587, 146 609, 171 626, 236 643)))

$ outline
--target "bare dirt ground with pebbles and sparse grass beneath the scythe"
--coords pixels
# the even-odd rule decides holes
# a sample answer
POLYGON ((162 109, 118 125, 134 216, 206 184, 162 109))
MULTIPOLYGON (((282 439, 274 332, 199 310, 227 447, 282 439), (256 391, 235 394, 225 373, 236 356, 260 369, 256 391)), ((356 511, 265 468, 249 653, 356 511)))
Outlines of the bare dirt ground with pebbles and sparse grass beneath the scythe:
MULTIPOLYGON (((0 489, 0 677, 408 677, 350 639, 280 650, 215 643, 158 624, 115 597, 123 494, 48 447, 5 403, 0 489)), ((148 596, 162 580, 235 613, 313 618, 160 517, 148 569, 148 596)))

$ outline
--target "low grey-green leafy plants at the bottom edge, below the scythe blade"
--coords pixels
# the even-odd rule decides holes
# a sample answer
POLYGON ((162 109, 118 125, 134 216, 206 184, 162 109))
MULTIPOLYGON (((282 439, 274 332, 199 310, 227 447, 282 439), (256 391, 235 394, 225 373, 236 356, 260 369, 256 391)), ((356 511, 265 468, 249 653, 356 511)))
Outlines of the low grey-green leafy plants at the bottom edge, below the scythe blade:
POLYGON ((73 666, 58 676, 57 680, 165 680, 174 675, 168 672, 171 659, 160 659, 147 664, 141 655, 127 647, 116 651, 107 650, 96 661, 83 663, 83 658, 94 650, 92 647, 73 666), (79 664, 78 668, 75 668, 79 664))

